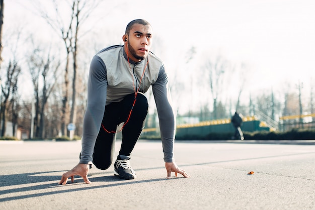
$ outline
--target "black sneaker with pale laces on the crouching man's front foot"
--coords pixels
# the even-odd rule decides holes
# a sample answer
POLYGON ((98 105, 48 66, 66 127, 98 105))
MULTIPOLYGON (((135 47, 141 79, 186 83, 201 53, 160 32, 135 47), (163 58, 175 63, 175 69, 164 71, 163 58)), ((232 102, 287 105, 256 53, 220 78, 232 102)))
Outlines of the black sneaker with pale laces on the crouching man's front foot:
POLYGON ((115 175, 122 179, 134 179, 136 177, 135 171, 130 166, 129 160, 116 160, 115 164, 115 175))

